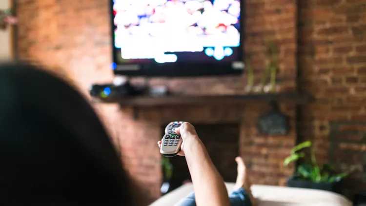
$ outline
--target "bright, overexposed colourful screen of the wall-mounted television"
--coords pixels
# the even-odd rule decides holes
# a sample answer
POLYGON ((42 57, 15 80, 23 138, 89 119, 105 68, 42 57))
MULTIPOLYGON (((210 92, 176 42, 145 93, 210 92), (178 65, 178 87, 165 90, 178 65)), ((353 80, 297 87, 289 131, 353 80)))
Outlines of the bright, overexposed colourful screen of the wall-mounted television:
POLYGON ((238 61, 240 0, 114 0, 115 64, 238 61))

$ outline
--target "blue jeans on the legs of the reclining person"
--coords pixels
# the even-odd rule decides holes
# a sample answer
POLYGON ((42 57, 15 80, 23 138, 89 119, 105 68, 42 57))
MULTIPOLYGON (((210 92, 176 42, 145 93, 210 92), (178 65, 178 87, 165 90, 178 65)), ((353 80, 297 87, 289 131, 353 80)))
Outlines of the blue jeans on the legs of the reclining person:
MULTIPOLYGON (((230 195, 231 206, 252 206, 249 195, 243 188, 233 191, 230 195)), ((190 193, 186 198, 180 201, 177 206, 196 206, 194 192, 190 193)))

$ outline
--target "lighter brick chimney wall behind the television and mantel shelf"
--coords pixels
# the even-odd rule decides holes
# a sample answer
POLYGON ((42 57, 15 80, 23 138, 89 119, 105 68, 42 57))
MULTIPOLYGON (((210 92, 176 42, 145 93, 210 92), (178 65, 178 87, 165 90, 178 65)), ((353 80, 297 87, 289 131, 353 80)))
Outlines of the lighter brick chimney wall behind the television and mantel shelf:
MULTIPOLYGON (((111 82, 107 0, 18 0, 17 14, 21 59, 57 68, 56 72, 70 77, 85 93, 91 83, 111 82)), ((245 2, 245 50, 254 54, 252 62, 256 82, 264 68, 264 44, 274 41, 279 45, 280 52, 280 92, 296 89, 297 16, 295 0, 245 2)), ((245 75, 169 81, 156 78, 150 83, 163 83, 173 91, 189 94, 238 94, 245 92, 246 78, 245 75)), ((122 151, 125 167, 138 187, 136 195, 141 201, 140 205, 146 205, 160 196, 161 155, 156 142, 162 136, 161 125, 171 120, 186 120, 193 124, 240 124, 239 154, 249 165, 255 184, 284 185, 293 171, 293 167, 284 168, 282 161, 296 141, 294 105, 281 105, 290 117, 291 131, 285 137, 257 134, 256 120, 269 109, 266 104, 230 107, 197 105, 180 107, 179 110, 176 107, 152 107, 141 109, 138 120, 132 119, 131 108, 120 110, 114 104, 95 106, 114 137, 117 148, 122 151), (141 147, 135 150, 134 144, 141 147)))

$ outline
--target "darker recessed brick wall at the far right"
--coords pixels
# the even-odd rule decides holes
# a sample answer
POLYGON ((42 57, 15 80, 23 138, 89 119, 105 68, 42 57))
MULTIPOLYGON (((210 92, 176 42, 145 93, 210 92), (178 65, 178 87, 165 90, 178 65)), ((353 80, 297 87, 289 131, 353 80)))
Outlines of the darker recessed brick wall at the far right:
POLYGON ((299 85, 318 99, 303 109, 301 138, 320 162, 355 169, 349 191, 365 190, 366 1, 299 1, 299 20, 299 85))

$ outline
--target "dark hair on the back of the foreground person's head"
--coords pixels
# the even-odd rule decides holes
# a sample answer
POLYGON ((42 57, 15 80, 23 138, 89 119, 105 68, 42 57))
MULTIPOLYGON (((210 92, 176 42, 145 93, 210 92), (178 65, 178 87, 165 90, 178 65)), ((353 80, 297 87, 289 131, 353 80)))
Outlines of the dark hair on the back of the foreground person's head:
POLYGON ((0 65, 0 205, 132 205, 130 183, 91 105, 24 63, 0 65))

